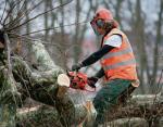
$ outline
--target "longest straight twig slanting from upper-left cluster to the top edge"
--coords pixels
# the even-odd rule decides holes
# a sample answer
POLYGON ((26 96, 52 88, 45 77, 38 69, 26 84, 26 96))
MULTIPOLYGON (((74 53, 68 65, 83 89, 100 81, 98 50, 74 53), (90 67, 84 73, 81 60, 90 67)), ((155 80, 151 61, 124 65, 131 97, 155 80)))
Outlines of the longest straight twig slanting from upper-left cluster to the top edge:
POLYGON ((36 16, 29 18, 28 21, 26 21, 26 22, 20 24, 18 26, 15 26, 15 27, 12 27, 12 28, 7 29, 7 31, 11 31, 11 30, 13 30, 13 29, 16 29, 16 28, 18 28, 18 27, 25 25, 26 23, 28 23, 28 22, 30 22, 30 21, 33 21, 33 20, 35 20, 35 18, 37 18, 37 17, 39 17, 39 16, 46 14, 46 13, 49 13, 49 12, 55 10, 55 9, 62 8, 62 7, 64 7, 64 5, 68 4, 68 3, 71 3, 72 1, 73 1, 73 0, 70 0, 68 2, 66 2, 66 3, 64 3, 64 4, 60 4, 60 5, 58 5, 58 7, 55 7, 55 8, 52 8, 52 9, 50 9, 50 10, 43 12, 43 13, 40 13, 40 14, 38 14, 38 15, 36 15, 36 16))

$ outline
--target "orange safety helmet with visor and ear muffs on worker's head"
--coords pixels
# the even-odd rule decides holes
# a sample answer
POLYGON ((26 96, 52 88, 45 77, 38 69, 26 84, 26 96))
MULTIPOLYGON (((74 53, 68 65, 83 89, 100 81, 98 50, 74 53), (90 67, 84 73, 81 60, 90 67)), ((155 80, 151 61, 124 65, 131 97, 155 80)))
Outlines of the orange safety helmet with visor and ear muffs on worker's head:
POLYGON ((105 30, 118 26, 117 22, 113 18, 112 13, 106 9, 99 9, 90 24, 97 35, 103 35, 105 34, 105 30))

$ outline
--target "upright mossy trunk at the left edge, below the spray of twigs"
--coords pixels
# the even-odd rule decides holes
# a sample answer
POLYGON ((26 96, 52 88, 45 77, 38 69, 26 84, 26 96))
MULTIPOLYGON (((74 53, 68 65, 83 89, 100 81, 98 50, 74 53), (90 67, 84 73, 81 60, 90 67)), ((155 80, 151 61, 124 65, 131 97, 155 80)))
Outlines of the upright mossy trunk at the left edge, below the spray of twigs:
POLYGON ((1 49, 0 58, 4 60, 0 62, 0 126, 14 127, 20 93, 12 75, 10 40, 7 34, 3 33, 2 36, 4 38, 4 49, 1 49))

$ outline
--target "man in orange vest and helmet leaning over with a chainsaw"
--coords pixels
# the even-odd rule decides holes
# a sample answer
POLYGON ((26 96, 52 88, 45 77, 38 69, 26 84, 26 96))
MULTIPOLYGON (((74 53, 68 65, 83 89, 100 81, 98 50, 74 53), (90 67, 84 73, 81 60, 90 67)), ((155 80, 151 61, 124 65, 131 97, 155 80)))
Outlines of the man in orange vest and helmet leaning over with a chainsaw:
POLYGON ((120 103, 120 100, 124 102, 127 94, 138 87, 134 84, 138 78, 130 43, 127 36, 117 28, 118 24, 112 13, 106 9, 98 10, 90 24, 97 35, 102 35, 100 50, 82 63, 73 65, 72 69, 76 71, 101 60, 101 69, 88 78, 91 87, 96 87, 99 78, 104 76, 105 79, 104 87, 93 100, 98 113, 93 125, 96 127, 104 123, 105 111, 120 103))

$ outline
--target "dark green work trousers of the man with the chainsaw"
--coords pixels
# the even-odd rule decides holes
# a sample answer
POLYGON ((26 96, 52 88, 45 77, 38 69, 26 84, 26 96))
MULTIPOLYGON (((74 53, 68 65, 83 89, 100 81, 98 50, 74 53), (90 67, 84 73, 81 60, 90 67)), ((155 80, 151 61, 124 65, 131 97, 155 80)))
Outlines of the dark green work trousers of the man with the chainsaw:
POLYGON ((98 113, 93 127, 103 124, 105 113, 120 102, 125 102, 134 89, 135 87, 131 86, 131 80, 114 79, 106 82, 93 100, 93 105, 98 113))

